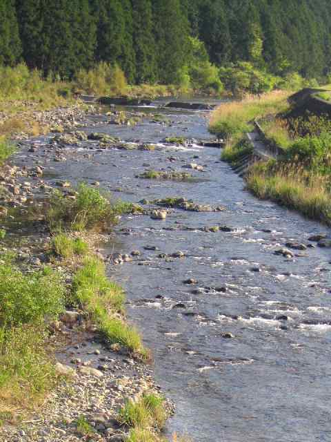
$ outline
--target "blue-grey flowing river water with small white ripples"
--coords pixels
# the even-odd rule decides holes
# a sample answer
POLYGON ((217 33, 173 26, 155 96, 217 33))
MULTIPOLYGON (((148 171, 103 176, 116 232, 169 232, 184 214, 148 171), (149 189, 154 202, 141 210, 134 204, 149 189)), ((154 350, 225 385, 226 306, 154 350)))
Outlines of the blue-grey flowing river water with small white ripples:
MULTIPOLYGON (((97 131, 153 143, 210 137, 208 113, 157 113, 172 125, 147 118, 97 131)), ((109 274, 125 287, 128 315, 152 349, 157 381, 177 405, 168 432, 197 442, 331 441, 330 249, 294 251, 294 258, 274 253, 289 240, 316 244, 309 236, 329 229, 254 198, 217 148, 89 153, 83 148, 74 161, 55 165, 57 179, 97 180, 132 202, 177 196, 226 209, 174 209, 165 221, 132 215, 108 247, 141 251, 109 274), (190 182, 136 177, 191 162, 204 171, 193 171, 197 180, 190 182), (212 226, 230 229, 200 230, 212 226), (185 258, 159 258, 179 250, 185 258), (197 284, 185 285, 188 278, 197 284)))

